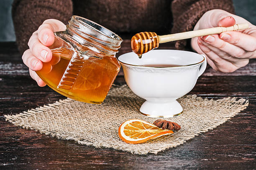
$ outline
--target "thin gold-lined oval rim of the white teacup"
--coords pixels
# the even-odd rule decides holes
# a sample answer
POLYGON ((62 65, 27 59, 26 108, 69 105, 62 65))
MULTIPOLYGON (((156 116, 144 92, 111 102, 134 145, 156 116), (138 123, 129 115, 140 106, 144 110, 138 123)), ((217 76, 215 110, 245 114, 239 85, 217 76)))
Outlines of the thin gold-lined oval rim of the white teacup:
MULTIPOLYGON (((172 51, 180 51, 180 50, 172 50, 172 51)), ((191 51, 185 51, 185 52, 198 54, 198 53, 196 53, 196 52, 191 52, 191 51)), ((134 52, 127 52, 127 53, 124 53, 124 54, 128 54, 128 53, 134 53, 134 52)), ((124 54, 122 54, 122 55, 124 55, 124 54)), ((120 56, 122 56, 122 55, 120 55, 120 56)), ((198 55, 201 55, 201 54, 198 54, 198 55)), ((124 65, 129 65, 129 66, 134 66, 134 67, 146 67, 146 68, 177 68, 177 67, 187 67, 187 66, 192 66, 192 65, 201 64, 201 63, 203 63, 203 62, 205 61, 205 57, 204 57, 203 55, 201 55, 202 58, 203 58, 203 60, 200 61, 200 62, 194 63, 194 64, 180 65, 180 66, 170 66, 170 67, 164 67, 164 66, 162 66, 162 67, 156 67, 156 66, 145 66, 145 65, 133 65, 133 64, 128 64, 128 63, 125 63, 125 62, 120 61, 120 60, 119 60, 119 57, 120 57, 120 56, 117 57, 117 60, 118 60, 118 62, 120 62, 120 63, 122 63, 122 64, 124 64, 124 65)))

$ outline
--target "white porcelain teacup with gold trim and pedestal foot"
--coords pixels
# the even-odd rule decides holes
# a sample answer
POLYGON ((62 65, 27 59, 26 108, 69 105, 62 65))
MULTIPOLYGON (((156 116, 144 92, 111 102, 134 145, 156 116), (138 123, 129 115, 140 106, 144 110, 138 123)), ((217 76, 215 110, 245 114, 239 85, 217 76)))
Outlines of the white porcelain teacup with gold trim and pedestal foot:
POLYGON ((129 52, 120 55, 118 61, 123 67, 127 85, 146 100, 140 112, 148 117, 181 115, 183 109, 176 99, 192 90, 206 68, 204 55, 181 50, 151 50, 143 54, 141 59, 129 52))

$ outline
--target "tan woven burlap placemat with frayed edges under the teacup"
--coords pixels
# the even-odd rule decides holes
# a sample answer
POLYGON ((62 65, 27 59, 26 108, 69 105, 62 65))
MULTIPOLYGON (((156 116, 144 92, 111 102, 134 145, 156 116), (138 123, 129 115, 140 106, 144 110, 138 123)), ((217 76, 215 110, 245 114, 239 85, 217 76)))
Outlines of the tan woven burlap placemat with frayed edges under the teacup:
POLYGON ((177 122, 181 125, 181 130, 136 145, 120 140, 120 124, 133 118, 153 123, 156 118, 139 114, 144 100, 133 94, 126 85, 112 88, 101 105, 66 99, 5 117, 16 126, 37 130, 63 140, 75 140, 82 145, 114 148, 135 154, 157 154, 215 128, 248 106, 248 100, 230 97, 208 100, 196 95, 185 95, 178 101, 184 113, 165 120, 177 122))

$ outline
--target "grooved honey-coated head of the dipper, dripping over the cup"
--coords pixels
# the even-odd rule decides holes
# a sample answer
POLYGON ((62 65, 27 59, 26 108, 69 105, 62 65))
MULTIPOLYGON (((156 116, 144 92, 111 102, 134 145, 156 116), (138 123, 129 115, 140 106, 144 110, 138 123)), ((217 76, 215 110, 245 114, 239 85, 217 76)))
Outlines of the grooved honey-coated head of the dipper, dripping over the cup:
POLYGON ((157 47, 159 47, 159 40, 155 32, 140 32, 133 35, 131 39, 131 48, 139 58, 157 47))

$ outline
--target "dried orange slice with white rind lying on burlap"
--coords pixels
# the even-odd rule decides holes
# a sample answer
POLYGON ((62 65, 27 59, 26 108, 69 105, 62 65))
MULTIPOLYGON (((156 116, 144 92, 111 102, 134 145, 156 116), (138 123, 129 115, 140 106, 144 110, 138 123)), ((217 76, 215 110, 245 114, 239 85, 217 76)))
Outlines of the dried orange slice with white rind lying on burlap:
POLYGON ((162 130, 152 123, 139 119, 127 120, 120 125, 118 134, 126 143, 143 143, 163 135, 172 134, 172 130, 162 130))

